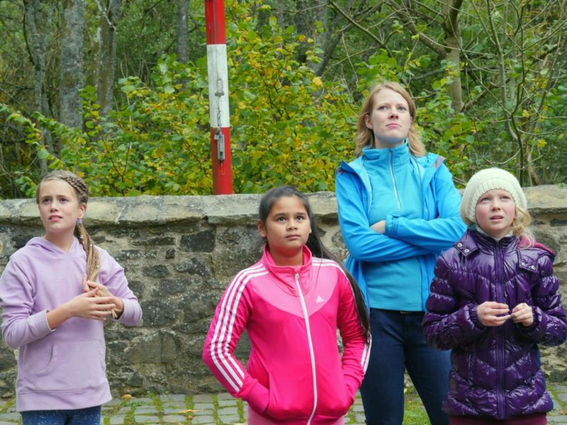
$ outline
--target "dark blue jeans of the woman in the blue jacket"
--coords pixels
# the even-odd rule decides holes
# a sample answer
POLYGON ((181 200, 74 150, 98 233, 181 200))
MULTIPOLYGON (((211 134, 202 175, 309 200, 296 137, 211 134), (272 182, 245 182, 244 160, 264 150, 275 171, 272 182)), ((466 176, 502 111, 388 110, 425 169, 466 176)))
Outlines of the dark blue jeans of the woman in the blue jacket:
POLYGON ((372 348, 360 389, 366 424, 403 423, 404 369, 432 425, 449 425, 441 404, 449 392, 450 352, 434 350, 423 335, 423 312, 370 310, 372 348))

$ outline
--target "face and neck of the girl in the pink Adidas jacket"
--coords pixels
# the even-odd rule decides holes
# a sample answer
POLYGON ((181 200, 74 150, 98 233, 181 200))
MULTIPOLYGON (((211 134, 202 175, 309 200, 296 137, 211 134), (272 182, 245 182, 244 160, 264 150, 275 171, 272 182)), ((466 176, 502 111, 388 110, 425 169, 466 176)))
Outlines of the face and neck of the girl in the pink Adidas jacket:
POLYGON ((303 246, 311 233, 309 215, 297 196, 282 196, 271 205, 266 222, 258 220, 258 232, 268 241, 278 266, 301 266, 303 246))

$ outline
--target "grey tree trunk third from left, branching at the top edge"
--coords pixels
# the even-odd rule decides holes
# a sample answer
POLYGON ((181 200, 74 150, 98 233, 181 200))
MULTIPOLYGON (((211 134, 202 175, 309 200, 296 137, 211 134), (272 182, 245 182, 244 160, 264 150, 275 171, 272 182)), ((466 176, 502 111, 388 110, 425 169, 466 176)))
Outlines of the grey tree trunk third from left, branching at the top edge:
POLYGON ((106 0, 106 9, 101 13, 99 42, 99 74, 96 79, 96 98, 101 106, 101 116, 108 115, 112 108, 114 73, 116 70, 116 23, 120 14, 120 0, 106 0))

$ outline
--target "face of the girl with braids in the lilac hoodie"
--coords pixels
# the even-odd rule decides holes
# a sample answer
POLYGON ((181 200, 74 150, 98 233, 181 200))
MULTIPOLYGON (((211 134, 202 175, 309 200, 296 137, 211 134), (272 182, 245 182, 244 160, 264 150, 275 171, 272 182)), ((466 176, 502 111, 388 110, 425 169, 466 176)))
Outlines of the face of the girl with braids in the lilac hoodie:
POLYGON ((86 204, 79 204, 77 193, 69 183, 62 180, 44 181, 40 185, 38 198, 45 239, 57 244, 72 237, 77 219, 84 216, 86 204))

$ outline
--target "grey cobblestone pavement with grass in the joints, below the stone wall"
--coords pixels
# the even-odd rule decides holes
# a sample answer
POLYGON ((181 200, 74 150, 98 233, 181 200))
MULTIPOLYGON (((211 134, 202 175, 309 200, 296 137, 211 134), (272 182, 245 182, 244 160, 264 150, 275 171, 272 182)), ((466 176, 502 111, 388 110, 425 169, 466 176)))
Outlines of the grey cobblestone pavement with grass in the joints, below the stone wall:
MULTIPOLYGON (((549 412, 549 424, 567 425, 567 385, 551 385, 549 392, 555 408, 549 412)), ((155 395, 154 397, 125 397, 114 399, 102 409, 102 425, 130 424, 238 424, 246 423, 246 405, 228 393, 214 395, 155 395)), ((345 424, 364 424, 360 396, 357 396, 345 424)), ((21 424, 14 400, 0 401, 0 425, 21 424)), ((404 421, 404 424, 406 422, 404 421)), ((410 424, 410 422, 408 422, 410 424)), ((415 425, 427 425, 416 424, 415 425)))

